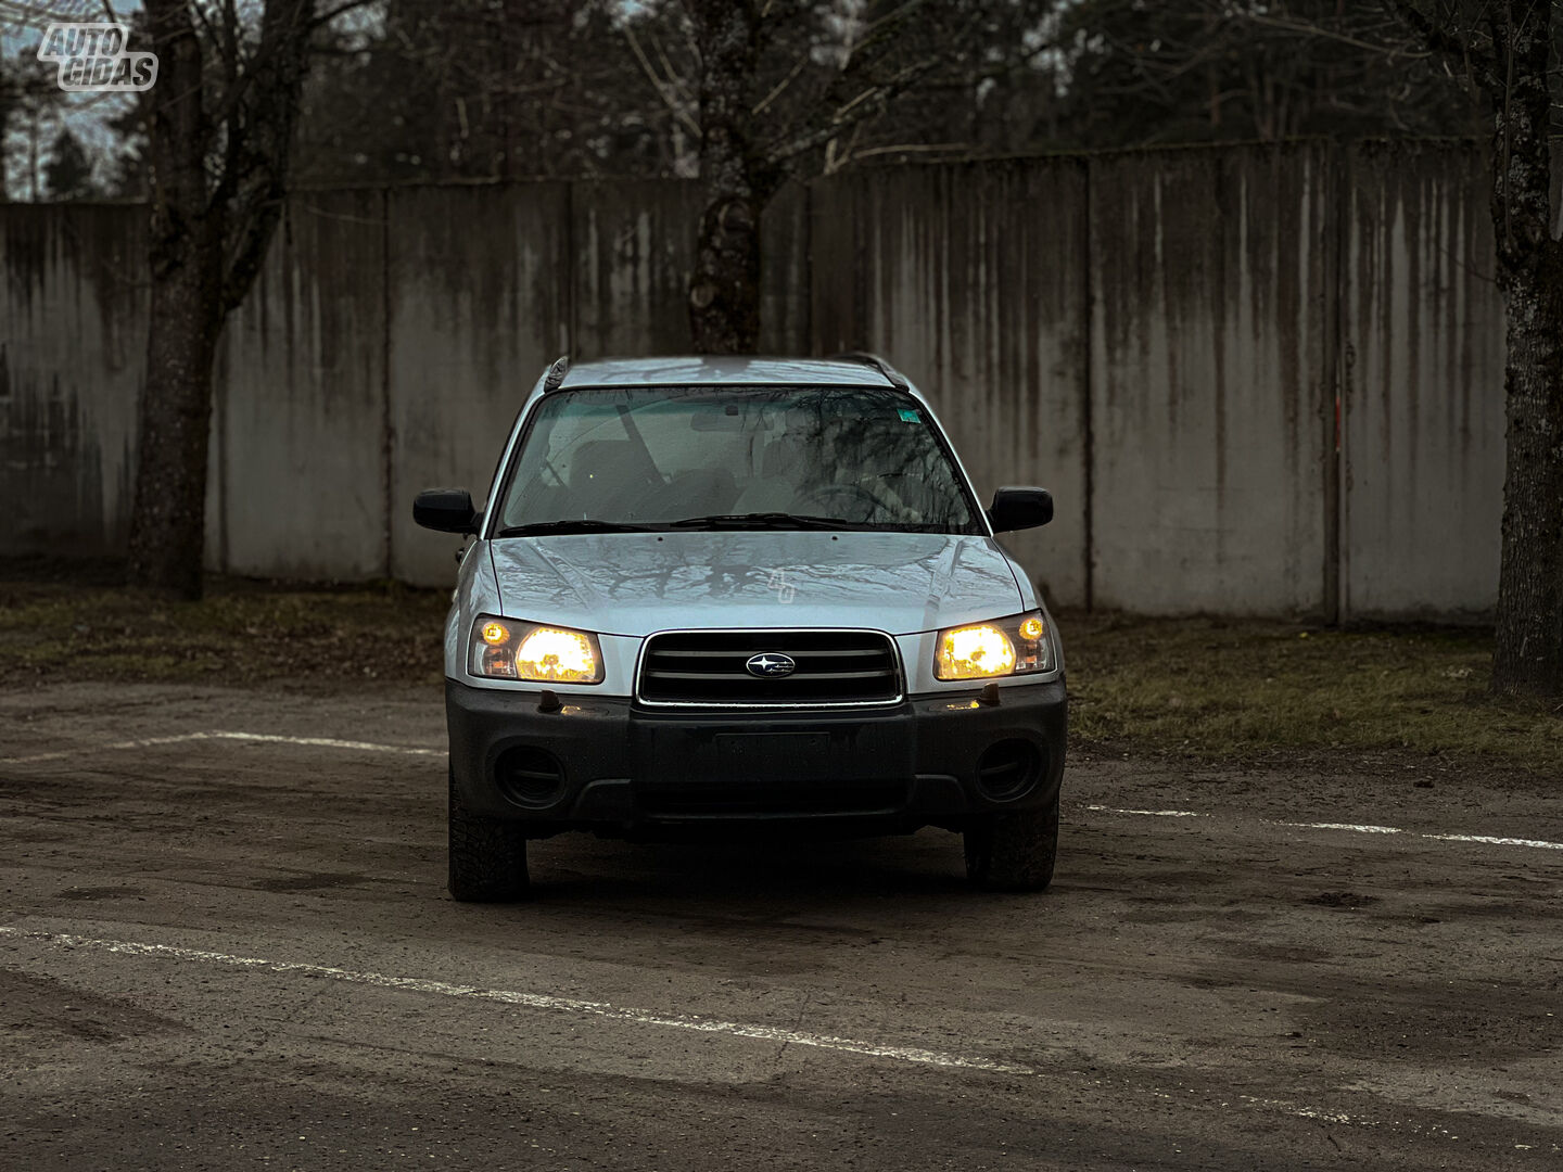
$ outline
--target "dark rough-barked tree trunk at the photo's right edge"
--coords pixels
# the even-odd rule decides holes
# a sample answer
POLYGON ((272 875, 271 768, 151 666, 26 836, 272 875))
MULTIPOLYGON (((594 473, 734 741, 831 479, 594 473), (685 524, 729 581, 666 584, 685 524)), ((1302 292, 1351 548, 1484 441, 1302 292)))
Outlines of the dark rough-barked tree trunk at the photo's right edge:
POLYGON ((1494 19, 1493 227, 1508 313, 1508 472, 1493 689, 1563 699, 1563 242, 1552 238, 1550 0, 1494 19))

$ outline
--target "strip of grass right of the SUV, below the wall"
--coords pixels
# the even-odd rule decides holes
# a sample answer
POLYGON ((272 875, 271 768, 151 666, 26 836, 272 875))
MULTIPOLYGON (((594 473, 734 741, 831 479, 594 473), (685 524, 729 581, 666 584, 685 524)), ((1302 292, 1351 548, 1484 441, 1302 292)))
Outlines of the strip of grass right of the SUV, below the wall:
POLYGON ((1563 777, 1563 713, 1488 697, 1490 631, 1083 614, 1061 628, 1082 747, 1216 761, 1393 750, 1563 777))

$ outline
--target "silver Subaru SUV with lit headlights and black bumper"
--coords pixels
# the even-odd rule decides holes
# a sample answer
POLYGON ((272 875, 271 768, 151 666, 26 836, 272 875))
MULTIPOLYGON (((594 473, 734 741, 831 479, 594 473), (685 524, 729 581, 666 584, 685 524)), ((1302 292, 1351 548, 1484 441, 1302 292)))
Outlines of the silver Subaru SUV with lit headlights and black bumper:
POLYGON ((527 892, 566 830, 964 834, 1053 874, 1063 649, 927 400, 869 355, 560 359, 522 405, 445 627, 450 892, 527 892))

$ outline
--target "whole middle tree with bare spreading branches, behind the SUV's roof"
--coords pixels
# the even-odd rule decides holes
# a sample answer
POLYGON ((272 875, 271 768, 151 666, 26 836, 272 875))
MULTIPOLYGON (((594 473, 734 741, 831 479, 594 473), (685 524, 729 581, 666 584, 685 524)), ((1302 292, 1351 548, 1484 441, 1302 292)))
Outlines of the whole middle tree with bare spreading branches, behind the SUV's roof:
POLYGON ((638 53, 677 123, 699 133, 696 350, 755 348, 760 217, 788 178, 830 166, 852 131, 900 95, 969 75, 974 33, 999 14, 1038 9, 1022 0, 677 0, 664 9, 681 36, 638 53))

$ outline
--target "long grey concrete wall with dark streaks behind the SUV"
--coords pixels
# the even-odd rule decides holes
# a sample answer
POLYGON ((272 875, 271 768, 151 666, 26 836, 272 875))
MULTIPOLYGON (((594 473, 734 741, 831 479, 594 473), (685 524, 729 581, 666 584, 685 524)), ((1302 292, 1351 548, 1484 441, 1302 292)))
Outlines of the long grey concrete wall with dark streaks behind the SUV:
MULTIPOLYGON (((542 366, 688 348, 699 189, 300 192, 217 364, 208 559, 444 583, 542 366)), ((1063 605, 1491 609, 1502 302, 1477 155, 1324 144, 836 175, 766 225, 764 348, 874 348, 1063 605)), ((0 208, 0 553, 123 547, 144 211, 0 208)))

